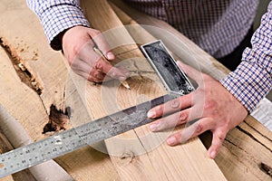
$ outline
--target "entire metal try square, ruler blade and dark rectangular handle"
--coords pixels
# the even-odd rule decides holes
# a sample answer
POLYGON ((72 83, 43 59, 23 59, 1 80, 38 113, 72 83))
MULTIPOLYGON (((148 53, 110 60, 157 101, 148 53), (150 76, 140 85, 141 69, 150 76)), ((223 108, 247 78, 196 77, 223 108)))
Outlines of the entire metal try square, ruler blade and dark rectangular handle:
POLYGON ((166 49, 161 41, 151 43, 151 46, 149 44, 145 44, 141 47, 141 50, 146 55, 148 54, 149 61, 153 63, 152 66, 154 67, 155 71, 160 73, 160 77, 163 79, 166 88, 170 90, 170 92, 175 92, 174 94, 170 93, 160 98, 146 101, 140 105, 103 117, 102 119, 90 121, 76 128, 65 130, 49 138, 44 138, 24 147, 6 152, 0 156, 0 177, 8 176, 25 168, 43 163, 44 161, 54 157, 59 157, 66 153, 72 152, 75 149, 92 145, 95 142, 106 138, 112 138, 113 136, 119 135, 128 130, 150 123, 153 121, 153 119, 147 118, 146 115, 148 110, 166 101, 176 99, 180 97, 180 95, 189 93, 190 90, 193 90, 193 87, 189 83, 186 76, 181 71, 174 70, 177 69, 177 65, 170 62, 172 61, 170 59, 171 57, 168 57, 167 55, 169 52, 165 52, 166 49), (161 46, 163 49, 160 49, 161 46), (171 66, 170 71, 161 70, 166 68, 160 66, 159 63, 161 61, 157 60, 160 57, 157 57, 156 53, 151 54, 152 47, 158 49, 157 51, 159 52, 160 50, 164 51, 163 56, 160 52, 160 57, 166 59, 162 61, 163 63, 165 61, 169 61, 167 63, 171 66), (154 59, 156 59, 155 62, 154 59), (174 72, 174 79, 170 78, 173 76, 172 72, 174 72), (182 81, 182 84, 179 84, 180 88, 178 90, 173 90, 170 86, 175 80, 182 81))

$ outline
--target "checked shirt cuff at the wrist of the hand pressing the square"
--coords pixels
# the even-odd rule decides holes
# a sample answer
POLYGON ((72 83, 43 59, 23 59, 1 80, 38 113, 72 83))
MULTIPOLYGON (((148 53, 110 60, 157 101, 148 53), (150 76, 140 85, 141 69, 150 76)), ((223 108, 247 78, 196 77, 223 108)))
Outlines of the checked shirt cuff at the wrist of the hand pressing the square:
POLYGON ((236 71, 220 81, 250 113, 271 88, 269 73, 254 62, 241 62, 236 71))

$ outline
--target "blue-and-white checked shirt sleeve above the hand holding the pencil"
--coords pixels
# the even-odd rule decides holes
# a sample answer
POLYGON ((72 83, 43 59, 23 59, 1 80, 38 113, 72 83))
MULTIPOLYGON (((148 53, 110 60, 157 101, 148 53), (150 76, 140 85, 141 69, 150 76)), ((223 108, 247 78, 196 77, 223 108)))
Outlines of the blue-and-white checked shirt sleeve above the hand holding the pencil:
POLYGON ((90 27, 77 0, 27 0, 27 5, 39 17, 53 50, 61 50, 58 34, 76 25, 90 27))

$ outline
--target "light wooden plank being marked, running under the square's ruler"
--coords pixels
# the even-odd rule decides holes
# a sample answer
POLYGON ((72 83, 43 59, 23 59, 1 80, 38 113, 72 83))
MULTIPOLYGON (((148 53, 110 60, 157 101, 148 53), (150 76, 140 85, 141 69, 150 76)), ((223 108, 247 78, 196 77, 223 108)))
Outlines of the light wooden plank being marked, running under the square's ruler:
MULTIPOLYGON (((131 38, 127 37, 128 33, 123 32, 121 22, 106 1, 81 1, 81 5, 92 27, 107 31, 107 33, 109 30, 110 32, 114 32, 112 33, 116 38, 116 41, 115 39, 113 41, 114 43, 125 40, 129 40, 131 43, 131 38), (105 20, 107 23, 102 24, 101 22, 105 20), (116 27, 121 28, 121 33, 116 31, 116 27), (120 34, 121 36, 119 36, 120 34)), ((110 42, 110 44, 112 43, 110 42)), ((139 61, 144 60, 139 49, 131 53, 133 58, 125 64, 127 65, 126 68, 130 70, 133 66, 141 66, 144 69, 141 71, 151 71, 148 62, 139 61), (135 64, 137 65, 135 66, 135 64), (148 70, 146 70, 147 68, 148 70)), ((121 57, 117 57, 117 60, 120 61, 121 57)), ((126 54, 123 54, 123 57, 126 57, 126 54)), ((149 73, 149 75, 157 76, 154 73, 149 73)), ((117 106, 113 104, 111 107, 111 101, 116 102, 120 107, 119 109, 123 109, 135 105, 137 99, 141 96, 141 99, 138 101, 149 100, 165 92, 165 90, 161 89, 161 83, 150 81, 152 77, 148 77, 150 80, 147 82, 137 81, 139 77, 141 77, 140 79, 142 79, 142 77, 147 79, 143 74, 141 74, 141 76, 135 74, 134 77, 128 80, 128 83, 132 87, 131 90, 124 90, 121 87, 114 89, 114 83, 112 82, 104 83, 102 86, 87 84, 90 88, 86 91, 86 100, 89 103, 92 117, 100 118, 108 115, 112 111, 116 111, 117 106), (137 88, 137 90, 135 90, 135 88, 137 88), (103 89, 111 96, 107 97, 107 95, 103 93, 103 89), (144 95, 142 95, 142 93, 144 93, 144 95), (107 100, 105 97, 107 97, 107 99, 112 97, 113 99, 105 101, 107 100), (103 104, 103 101, 107 104, 103 104)), ((158 77, 156 79, 159 80, 158 77)), ((168 134, 170 133, 166 133, 166 135, 168 134)), ((206 156, 206 149, 198 138, 189 141, 188 144, 183 146, 170 148, 163 142, 166 135, 151 133, 148 127, 145 126, 106 140, 106 146, 110 152, 112 162, 121 176, 121 179, 225 180, 214 161, 206 156), (158 145, 155 145, 156 147, 154 145, 151 146, 150 144, 153 142, 158 145), (210 170, 213 171, 211 172, 210 170)))

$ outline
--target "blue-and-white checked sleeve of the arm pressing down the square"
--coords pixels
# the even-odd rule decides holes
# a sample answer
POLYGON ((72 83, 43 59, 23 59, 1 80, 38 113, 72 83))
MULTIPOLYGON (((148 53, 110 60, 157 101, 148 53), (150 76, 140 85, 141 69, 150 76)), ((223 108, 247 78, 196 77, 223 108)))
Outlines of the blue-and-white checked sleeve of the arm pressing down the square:
POLYGON ((243 52, 242 62, 221 84, 251 112, 272 87, 272 2, 253 34, 252 48, 243 52))

